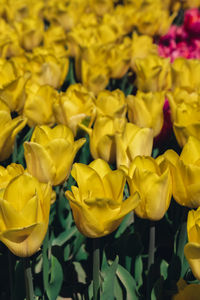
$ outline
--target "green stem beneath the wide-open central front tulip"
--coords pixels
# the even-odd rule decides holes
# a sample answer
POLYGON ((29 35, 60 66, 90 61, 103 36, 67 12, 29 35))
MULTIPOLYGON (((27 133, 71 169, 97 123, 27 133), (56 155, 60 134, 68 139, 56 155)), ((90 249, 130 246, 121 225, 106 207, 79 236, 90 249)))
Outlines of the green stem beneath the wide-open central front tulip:
POLYGON ((93 300, 99 299, 100 250, 99 240, 93 239, 93 300))

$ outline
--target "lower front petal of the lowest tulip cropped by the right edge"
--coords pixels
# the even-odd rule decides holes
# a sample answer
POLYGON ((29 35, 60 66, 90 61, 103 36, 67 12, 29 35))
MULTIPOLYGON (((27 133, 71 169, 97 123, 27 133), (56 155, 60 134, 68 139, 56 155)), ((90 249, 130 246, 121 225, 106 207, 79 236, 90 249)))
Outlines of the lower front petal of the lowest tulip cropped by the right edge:
POLYGON ((187 243, 184 247, 184 254, 192 269, 192 273, 200 280, 200 245, 187 243))

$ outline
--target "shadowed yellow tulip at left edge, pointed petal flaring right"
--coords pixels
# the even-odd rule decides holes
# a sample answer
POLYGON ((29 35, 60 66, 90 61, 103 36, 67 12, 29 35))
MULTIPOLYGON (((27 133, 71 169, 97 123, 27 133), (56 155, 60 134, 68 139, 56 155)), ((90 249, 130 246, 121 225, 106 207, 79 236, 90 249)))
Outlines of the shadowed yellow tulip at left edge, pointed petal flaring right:
POLYGON ((0 161, 11 155, 16 135, 24 128, 26 121, 22 117, 12 119, 9 111, 0 110, 0 161))

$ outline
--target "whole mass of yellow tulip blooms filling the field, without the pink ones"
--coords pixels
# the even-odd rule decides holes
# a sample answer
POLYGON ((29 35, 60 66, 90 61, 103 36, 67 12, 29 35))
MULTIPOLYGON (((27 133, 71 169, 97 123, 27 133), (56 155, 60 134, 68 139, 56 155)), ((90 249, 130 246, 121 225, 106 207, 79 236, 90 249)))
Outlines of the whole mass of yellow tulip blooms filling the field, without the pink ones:
POLYGON ((2 0, 0 240, 15 255, 40 249, 54 187, 71 172, 77 185, 65 196, 86 237, 112 233, 131 211, 161 220, 172 196, 191 208, 184 253, 200 280, 200 61, 170 62, 156 44, 179 9, 198 6, 199 0, 2 0), (166 126, 165 105, 180 152, 152 155, 166 126), (25 165, 17 164, 11 155, 27 128, 33 133, 23 144, 25 165), (86 135, 93 161, 73 164, 86 135))

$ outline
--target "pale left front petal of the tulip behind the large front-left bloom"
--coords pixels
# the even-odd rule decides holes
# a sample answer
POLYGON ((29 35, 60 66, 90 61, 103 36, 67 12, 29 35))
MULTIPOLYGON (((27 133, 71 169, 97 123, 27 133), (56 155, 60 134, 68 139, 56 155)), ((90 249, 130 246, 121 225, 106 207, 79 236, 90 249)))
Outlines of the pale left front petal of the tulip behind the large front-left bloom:
POLYGON ((24 143, 24 156, 28 172, 38 178, 40 182, 53 182, 56 169, 47 150, 40 144, 24 143))

